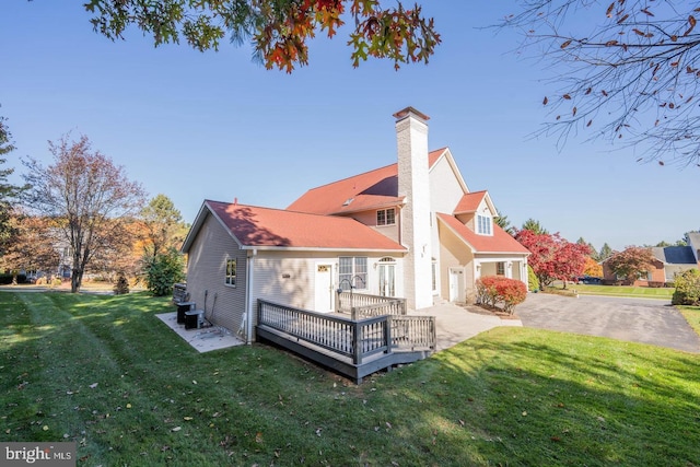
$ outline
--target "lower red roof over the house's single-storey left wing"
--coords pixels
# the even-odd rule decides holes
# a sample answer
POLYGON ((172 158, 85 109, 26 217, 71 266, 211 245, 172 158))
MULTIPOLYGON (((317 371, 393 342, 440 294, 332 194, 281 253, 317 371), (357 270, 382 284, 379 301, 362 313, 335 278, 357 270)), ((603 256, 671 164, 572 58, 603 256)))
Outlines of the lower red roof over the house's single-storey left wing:
POLYGON ((207 200, 185 240, 183 252, 191 247, 209 212, 243 249, 406 250, 354 219, 207 200))

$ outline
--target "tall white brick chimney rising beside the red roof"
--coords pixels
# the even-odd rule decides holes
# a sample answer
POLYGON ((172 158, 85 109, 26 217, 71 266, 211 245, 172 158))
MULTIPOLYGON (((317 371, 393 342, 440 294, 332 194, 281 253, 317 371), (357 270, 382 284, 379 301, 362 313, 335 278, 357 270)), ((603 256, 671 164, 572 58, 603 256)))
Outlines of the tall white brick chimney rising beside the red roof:
POLYGON ((394 114, 398 150, 398 196, 401 243, 409 250, 404 264, 404 291, 409 308, 433 305, 428 167, 428 117, 413 107, 394 114))

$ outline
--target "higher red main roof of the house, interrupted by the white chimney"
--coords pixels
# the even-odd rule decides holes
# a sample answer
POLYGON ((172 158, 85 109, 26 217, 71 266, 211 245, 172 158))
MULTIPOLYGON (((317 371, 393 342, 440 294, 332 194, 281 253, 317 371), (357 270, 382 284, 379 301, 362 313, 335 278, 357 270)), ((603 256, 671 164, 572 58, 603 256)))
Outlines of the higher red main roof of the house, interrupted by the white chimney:
MULTIPOLYGON (((445 150, 443 148, 428 154, 430 167, 445 150)), ((316 214, 342 214, 381 209, 402 202, 404 197, 398 196, 398 164, 392 164, 312 188, 287 209, 316 214)))

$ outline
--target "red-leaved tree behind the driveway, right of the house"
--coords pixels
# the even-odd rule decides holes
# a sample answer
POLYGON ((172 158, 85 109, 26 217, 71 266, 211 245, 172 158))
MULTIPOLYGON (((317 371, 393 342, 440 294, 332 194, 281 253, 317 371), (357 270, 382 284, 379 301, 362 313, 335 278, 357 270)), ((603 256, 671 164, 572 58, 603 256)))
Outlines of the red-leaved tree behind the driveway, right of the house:
POLYGON ((564 281, 565 288, 568 280, 583 273, 586 257, 591 254, 588 245, 571 243, 559 233, 538 234, 523 229, 515 234, 515 240, 532 253, 527 264, 535 271, 540 287, 559 279, 564 281))

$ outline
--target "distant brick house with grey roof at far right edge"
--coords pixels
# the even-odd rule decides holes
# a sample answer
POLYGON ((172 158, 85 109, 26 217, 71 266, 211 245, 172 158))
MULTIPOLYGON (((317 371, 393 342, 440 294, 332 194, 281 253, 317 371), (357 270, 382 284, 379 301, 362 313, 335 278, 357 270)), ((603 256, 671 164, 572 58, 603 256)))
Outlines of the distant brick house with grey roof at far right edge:
MULTIPOLYGON (((646 271, 641 278, 634 281, 634 285, 662 285, 673 282, 676 275, 688 269, 700 268, 700 233, 688 232, 685 236, 687 246, 654 246, 651 247, 653 269, 646 271)), ((618 278, 603 261, 603 275, 607 281, 626 280, 618 278)))

